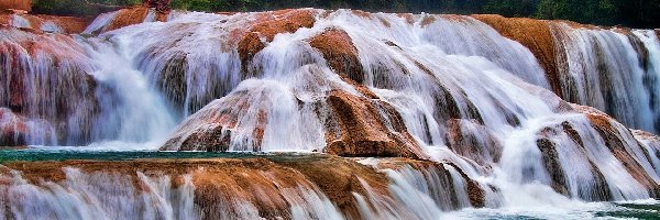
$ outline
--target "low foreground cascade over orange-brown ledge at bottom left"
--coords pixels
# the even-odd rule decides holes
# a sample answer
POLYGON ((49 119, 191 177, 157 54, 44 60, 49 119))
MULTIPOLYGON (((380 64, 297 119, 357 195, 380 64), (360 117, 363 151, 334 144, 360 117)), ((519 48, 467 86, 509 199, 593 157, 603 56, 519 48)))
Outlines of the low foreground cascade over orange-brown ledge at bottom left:
POLYGON ((186 161, 177 168, 170 167, 173 169, 152 167, 160 163, 134 164, 141 170, 103 162, 42 169, 42 173, 38 172, 44 164, 25 164, 35 169, 22 172, 1 167, 0 213, 3 216, 0 218, 345 218, 311 179, 270 162, 186 161), (218 163, 228 166, 216 167, 218 163), (118 169, 98 170, 99 165, 113 165, 118 169), (48 174, 57 177, 42 179, 46 176, 40 176, 48 174))

